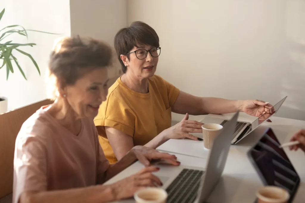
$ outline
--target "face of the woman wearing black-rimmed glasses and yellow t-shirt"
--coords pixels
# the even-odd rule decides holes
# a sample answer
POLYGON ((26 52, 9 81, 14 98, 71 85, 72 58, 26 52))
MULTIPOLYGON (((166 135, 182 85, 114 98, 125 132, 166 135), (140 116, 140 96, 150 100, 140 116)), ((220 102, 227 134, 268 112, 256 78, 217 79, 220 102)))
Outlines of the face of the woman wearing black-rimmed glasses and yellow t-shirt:
MULTIPOLYGON (((153 47, 150 45, 142 45, 134 47, 130 52, 139 49, 151 50, 151 48, 153 47)), ((145 54, 145 51, 139 50, 137 54, 145 54)), ((150 52, 148 52, 146 58, 144 59, 138 59, 136 53, 129 54, 129 60, 124 55, 121 55, 121 59, 123 60, 124 64, 127 65, 127 74, 132 73, 139 78, 150 78, 156 72, 159 57, 152 57, 150 52)))

